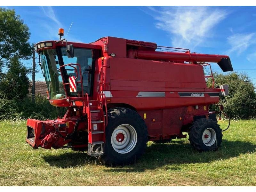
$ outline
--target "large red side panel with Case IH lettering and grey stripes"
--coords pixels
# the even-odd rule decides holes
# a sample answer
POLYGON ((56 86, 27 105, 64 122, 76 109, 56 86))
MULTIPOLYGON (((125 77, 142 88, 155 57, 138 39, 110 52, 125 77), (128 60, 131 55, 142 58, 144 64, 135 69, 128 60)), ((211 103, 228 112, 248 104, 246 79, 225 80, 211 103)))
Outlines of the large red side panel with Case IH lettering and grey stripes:
POLYGON ((206 87, 201 65, 110 57, 111 103, 138 110, 219 102, 219 90, 206 87), (213 93, 208 93, 213 92, 213 93))

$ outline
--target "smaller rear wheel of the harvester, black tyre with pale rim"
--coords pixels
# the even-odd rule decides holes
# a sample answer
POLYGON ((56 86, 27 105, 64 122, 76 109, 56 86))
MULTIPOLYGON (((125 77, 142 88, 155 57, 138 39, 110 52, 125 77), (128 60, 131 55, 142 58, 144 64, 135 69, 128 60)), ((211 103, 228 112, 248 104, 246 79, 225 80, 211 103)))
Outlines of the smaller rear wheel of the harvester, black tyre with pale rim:
POLYGON ((198 119, 189 129, 190 144, 198 151, 216 151, 222 142, 220 125, 211 119, 198 119))

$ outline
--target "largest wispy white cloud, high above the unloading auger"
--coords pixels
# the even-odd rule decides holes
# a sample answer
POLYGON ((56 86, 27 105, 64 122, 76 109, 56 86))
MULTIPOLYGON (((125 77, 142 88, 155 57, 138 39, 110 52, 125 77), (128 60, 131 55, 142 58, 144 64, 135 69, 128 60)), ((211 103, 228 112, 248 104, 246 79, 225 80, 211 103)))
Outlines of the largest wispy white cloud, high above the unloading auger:
POLYGON ((167 31, 173 46, 194 48, 212 36, 212 29, 227 16, 225 10, 209 7, 164 7, 157 11, 156 27, 167 31))

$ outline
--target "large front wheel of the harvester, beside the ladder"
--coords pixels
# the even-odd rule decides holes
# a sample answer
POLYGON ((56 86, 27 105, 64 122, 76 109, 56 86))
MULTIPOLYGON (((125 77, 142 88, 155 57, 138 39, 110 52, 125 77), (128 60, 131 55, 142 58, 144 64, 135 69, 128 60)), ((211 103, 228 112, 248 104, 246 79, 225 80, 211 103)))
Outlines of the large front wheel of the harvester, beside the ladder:
POLYGON ((134 163, 147 147, 148 130, 140 115, 129 108, 108 110, 104 154, 98 157, 102 164, 134 163))

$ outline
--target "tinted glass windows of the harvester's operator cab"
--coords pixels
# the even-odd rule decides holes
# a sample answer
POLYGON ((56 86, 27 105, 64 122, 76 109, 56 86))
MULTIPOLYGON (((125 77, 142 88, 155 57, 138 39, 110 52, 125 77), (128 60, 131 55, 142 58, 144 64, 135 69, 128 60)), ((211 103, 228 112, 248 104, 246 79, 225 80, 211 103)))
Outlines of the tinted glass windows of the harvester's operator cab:
POLYGON ((81 97, 82 89, 84 94, 88 93, 91 95, 93 80, 92 74, 94 72, 96 53, 92 49, 74 48, 74 57, 68 58, 66 47, 60 47, 57 50, 48 49, 42 51, 40 53, 42 60, 41 67, 44 70, 45 81, 48 86, 50 99, 62 99, 66 98, 67 96, 81 97), (73 67, 61 67, 69 63, 80 64, 82 72, 81 76, 80 68, 78 66, 73 65, 73 67), (75 79, 75 89, 71 89, 69 84, 63 85, 63 81, 64 83, 70 83, 69 77, 73 77, 75 79), (83 84, 77 83, 81 81, 81 78, 83 84), (67 95, 65 93, 64 86, 66 86, 65 88, 67 95))

